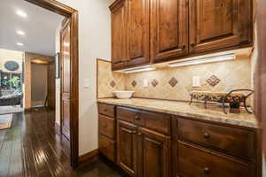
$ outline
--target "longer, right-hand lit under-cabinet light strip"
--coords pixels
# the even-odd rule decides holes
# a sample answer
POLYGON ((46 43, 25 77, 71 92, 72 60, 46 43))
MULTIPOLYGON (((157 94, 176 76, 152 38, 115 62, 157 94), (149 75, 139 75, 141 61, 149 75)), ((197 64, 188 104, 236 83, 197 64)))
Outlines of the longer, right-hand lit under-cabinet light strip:
POLYGON ((219 62, 219 61, 226 61, 226 60, 231 60, 235 58, 236 56, 234 54, 226 54, 226 55, 215 56, 211 58, 197 58, 197 59, 192 59, 188 61, 180 61, 180 62, 168 64, 168 66, 178 67, 178 66, 184 66, 184 65, 199 65, 199 64, 213 63, 213 62, 219 62))

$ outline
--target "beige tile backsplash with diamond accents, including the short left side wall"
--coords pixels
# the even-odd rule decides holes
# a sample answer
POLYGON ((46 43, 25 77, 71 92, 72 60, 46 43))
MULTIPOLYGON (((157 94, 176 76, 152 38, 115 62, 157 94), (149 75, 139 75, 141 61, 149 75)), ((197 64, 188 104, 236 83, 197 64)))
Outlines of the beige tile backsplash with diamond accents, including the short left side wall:
POLYGON ((200 85, 209 91, 228 92, 232 89, 251 88, 251 60, 237 58, 218 63, 160 68, 143 73, 114 73, 111 63, 98 64, 98 97, 113 96, 110 90, 134 90, 134 96, 145 98, 188 101, 192 77, 200 77, 200 85), (148 86, 144 87, 144 81, 148 86), (112 81, 114 83, 112 83, 112 81))

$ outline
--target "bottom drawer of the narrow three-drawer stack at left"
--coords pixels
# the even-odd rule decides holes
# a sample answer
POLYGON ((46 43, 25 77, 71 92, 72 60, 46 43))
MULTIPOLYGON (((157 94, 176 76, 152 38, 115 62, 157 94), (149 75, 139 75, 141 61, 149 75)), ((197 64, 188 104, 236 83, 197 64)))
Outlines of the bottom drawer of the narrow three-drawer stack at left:
POLYGON ((98 150, 113 162, 115 161, 115 143, 104 135, 98 135, 98 150))

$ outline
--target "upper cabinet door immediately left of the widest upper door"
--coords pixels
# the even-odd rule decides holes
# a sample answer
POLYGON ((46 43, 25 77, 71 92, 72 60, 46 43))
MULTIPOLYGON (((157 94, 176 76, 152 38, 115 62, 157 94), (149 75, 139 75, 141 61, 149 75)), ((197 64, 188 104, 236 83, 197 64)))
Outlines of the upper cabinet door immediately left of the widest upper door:
POLYGON ((161 61, 188 52, 186 0, 151 1, 151 59, 161 61))

